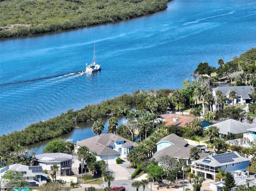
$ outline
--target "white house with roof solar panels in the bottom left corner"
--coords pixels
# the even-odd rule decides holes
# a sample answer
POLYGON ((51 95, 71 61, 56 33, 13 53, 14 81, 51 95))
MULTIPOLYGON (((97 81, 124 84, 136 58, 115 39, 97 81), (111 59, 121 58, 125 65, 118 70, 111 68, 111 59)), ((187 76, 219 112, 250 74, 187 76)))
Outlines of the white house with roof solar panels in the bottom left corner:
POLYGON ((15 170, 22 174, 22 177, 28 181, 30 188, 36 188, 46 184, 48 174, 42 172, 41 166, 26 166, 22 164, 13 164, 7 167, 0 168, 1 187, 4 188, 4 174, 8 170, 15 170))

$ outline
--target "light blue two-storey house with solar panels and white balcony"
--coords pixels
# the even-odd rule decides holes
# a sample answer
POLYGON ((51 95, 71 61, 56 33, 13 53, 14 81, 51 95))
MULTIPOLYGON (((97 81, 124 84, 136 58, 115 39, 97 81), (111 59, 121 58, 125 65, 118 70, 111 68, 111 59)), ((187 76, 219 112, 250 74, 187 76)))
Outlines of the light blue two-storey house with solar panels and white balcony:
POLYGON ((207 156, 203 159, 192 161, 191 173, 203 174, 206 178, 213 178, 215 181, 218 169, 231 172, 233 175, 244 176, 248 174, 246 167, 249 166, 250 159, 240 156, 236 151, 207 156))

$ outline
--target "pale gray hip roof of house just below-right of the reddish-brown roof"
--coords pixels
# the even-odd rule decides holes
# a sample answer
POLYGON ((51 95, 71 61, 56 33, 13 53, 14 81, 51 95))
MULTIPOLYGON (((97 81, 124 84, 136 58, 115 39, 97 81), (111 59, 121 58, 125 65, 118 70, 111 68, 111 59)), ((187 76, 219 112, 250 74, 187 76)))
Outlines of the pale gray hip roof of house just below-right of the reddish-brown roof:
POLYGON ((228 132, 235 134, 235 137, 237 138, 238 136, 243 135, 244 133, 248 133, 248 129, 255 127, 256 124, 255 123, 250 124, 247 122, 240 122, 234 119, 228 119, 228 120, 207 126, 203 130, 206 130, 211 126, 216 126, 217 128, 219 128, 218 133, 220 134, 221 138, 224 138, 225 136, 227 136, 228 132))

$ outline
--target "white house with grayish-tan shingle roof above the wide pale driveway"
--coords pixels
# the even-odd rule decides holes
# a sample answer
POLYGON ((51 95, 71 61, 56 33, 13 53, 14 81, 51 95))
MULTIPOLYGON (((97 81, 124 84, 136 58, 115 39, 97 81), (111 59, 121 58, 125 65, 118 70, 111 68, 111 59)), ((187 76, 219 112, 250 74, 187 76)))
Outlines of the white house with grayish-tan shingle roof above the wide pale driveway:
POLYGON ((87 146, 90 152, 98 154, 98 160, 115 162, 117 158, 127 158, 129 152, 138 144, 113 133, 100 134, 76 142, 78 148, 87 146))

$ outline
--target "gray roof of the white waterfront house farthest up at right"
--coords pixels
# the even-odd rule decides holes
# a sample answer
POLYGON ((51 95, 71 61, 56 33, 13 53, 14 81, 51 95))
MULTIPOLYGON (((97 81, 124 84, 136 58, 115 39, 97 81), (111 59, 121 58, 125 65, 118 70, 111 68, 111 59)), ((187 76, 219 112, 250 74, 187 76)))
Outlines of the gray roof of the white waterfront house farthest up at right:
POLYGON ((242 98, 250 98, 248 94, 252 94, 253 87, 252 86, 220 86, 213 88, 213 90, 221 91, 222 94, 228 95, 230 91, 235 91, 237 96, 242 96, 242 98))

